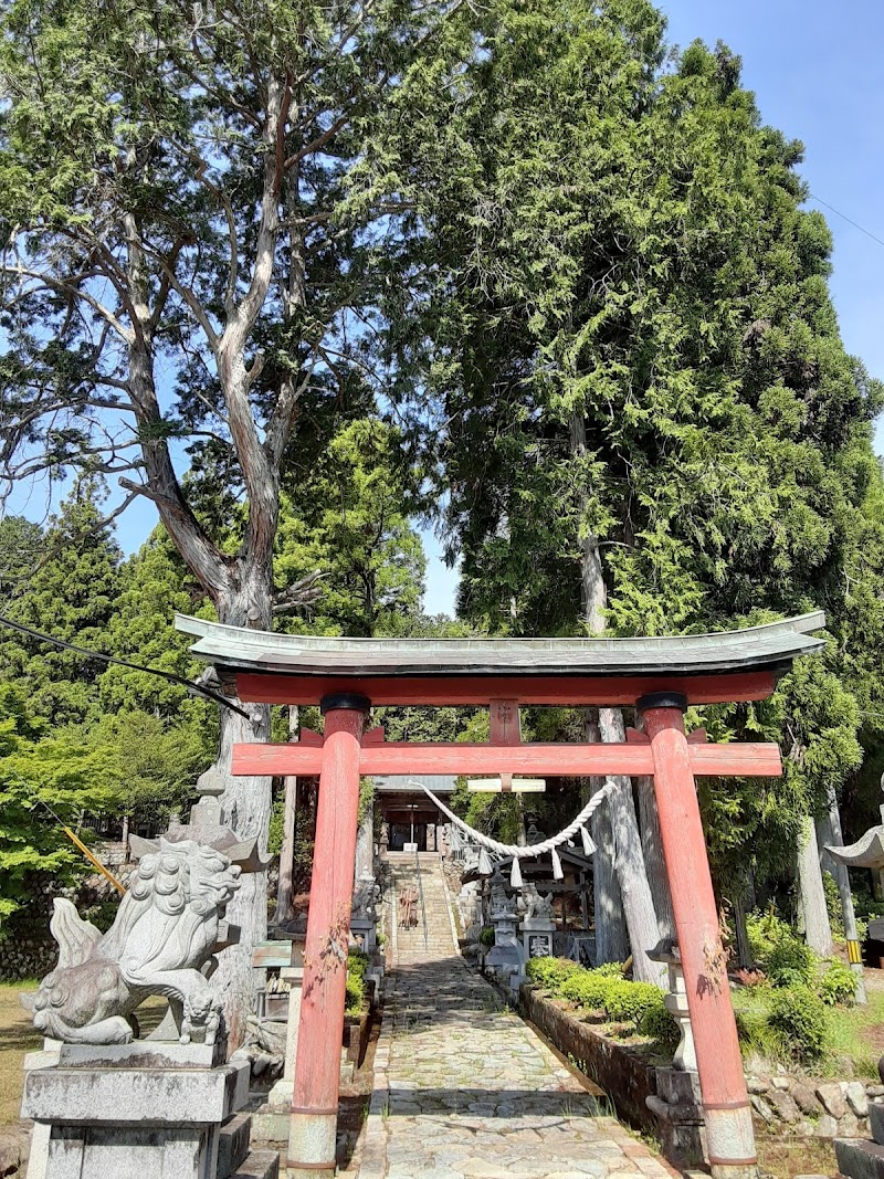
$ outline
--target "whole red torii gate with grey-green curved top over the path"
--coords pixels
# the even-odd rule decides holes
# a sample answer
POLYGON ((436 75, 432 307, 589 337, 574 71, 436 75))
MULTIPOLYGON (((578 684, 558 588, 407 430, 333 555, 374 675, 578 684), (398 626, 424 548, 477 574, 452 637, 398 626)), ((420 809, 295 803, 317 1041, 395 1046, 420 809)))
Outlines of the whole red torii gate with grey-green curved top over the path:
POLYGON ((289 1175, 334 1172, 339 1045, 359 777, 375 773, 648 775, 687 989, 713 1175, 756 1170, 752 1115, 731 1007, 694 777, 778 776, 777 745, 708 745, 688 705, 761 700, 818 650, 819 612, 744 631, 641 639, 317 639, 177 619, 245 702, 319 704, 324 735, 235 745, 235 775, 318 775, 316 855, 295 1069, 289 1175), (385 704, 487 705, 487 744, 385 742, 385 704), (519 705, 635 707, 620 744, 520 744, 519 705))

